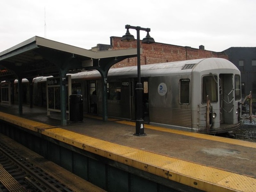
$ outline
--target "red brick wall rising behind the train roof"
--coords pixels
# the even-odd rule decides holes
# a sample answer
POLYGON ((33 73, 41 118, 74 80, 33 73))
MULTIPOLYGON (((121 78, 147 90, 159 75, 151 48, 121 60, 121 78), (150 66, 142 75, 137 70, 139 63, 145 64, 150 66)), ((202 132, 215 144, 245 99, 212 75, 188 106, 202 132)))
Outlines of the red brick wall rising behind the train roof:
MULTIPOLYGON (((123 42, 121 37, 110 37, 112 49, 136 48, 136 40, 132 42, 123 42)), ((179 60, 192 60, 208 57, 220 57, 228 59, 223 52, 212 52, 191 47, 182 47, 172 44, 154 43, 140 44, 143 52, 140 55, 140 64, 155 64, 179 60)), ((113 66, 113 68, 134 66, 137 64, 137 57, 128 58, 113 66)))

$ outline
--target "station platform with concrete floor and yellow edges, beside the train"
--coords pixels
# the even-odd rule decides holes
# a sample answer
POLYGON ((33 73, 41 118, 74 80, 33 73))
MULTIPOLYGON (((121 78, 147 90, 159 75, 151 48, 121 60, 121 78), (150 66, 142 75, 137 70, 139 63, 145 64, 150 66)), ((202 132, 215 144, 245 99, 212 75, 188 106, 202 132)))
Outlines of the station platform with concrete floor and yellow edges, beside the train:
POLYGON ((256 191, 256 143, 145 124, 146 136, 134 136, 135 123, 99 116, 60 126, 45 108, 0 105, 0 119, 207 192, 256 191))

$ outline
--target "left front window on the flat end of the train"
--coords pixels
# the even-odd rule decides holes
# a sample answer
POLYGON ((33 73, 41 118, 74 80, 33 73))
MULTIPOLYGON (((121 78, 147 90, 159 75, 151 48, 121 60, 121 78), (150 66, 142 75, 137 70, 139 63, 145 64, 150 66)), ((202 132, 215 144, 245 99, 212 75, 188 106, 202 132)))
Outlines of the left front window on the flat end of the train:
POLYGON ((204 76, 202 82, 202 103, 207 103, 207 96, 209 96, 209 100, 211 103, 218 102, 218 86, 217 86, 217 79, 216 75, 211 76, 204 76))

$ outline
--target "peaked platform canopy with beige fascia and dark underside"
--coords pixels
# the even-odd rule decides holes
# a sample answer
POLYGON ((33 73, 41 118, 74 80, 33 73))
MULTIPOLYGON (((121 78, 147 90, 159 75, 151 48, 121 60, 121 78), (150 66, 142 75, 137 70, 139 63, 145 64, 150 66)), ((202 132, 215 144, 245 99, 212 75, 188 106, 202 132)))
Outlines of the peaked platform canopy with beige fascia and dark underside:
POLYGON ((94 52, 34 36, 0 52, 0 81, 36 76, 60 76, 81 69, 107 70, 121 60, 136 56, 136 49, 94 52))

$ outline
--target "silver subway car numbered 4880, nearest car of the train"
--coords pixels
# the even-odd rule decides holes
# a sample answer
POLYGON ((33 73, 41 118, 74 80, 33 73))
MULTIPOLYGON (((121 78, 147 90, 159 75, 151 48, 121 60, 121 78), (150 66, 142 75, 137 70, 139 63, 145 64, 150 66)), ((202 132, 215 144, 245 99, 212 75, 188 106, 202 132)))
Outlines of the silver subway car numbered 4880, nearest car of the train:
MULTIPOLYGON (((72 74, 72 84, 86 81, 87 91, 80 93, 88 98, 88 112, 102 114, 99 73, 72 74), (93 111, 92 91, 97 93, 93 111)), ((136 66, 109 70, 108 116, 135 120, 136 82, 136 66)), ((142 65, 141 82, 144 121, 149 124, 206 134, 240 127, 240 71, 228 60, 207 58, 142 65)))

